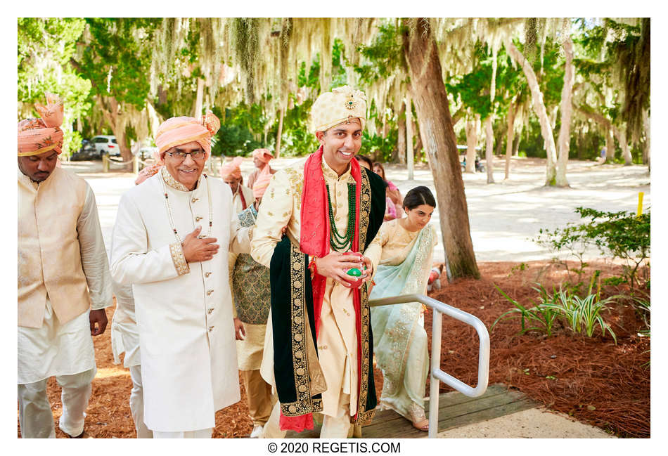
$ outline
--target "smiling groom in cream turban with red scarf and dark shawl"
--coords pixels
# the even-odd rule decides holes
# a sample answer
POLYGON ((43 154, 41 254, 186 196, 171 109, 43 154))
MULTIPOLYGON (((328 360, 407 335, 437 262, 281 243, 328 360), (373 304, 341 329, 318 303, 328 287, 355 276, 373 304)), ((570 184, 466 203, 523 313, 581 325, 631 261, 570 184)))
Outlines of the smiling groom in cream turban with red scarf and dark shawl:
POLYGON ((380 260, 385 184, 352 159, 365 121, 361 91, 321 94, 311 109, 319 150, 274 174, 259 208, 251 254, 271 270, 261 372, 279 400, 267 438, 312 429, 312 412, 324 415, 323 438, 345 438, 351 422, 373 417, 368 281, 380 260), (347 271, 365 267, 353 284, 347 271))

